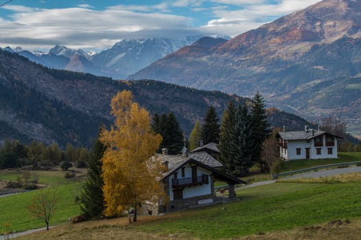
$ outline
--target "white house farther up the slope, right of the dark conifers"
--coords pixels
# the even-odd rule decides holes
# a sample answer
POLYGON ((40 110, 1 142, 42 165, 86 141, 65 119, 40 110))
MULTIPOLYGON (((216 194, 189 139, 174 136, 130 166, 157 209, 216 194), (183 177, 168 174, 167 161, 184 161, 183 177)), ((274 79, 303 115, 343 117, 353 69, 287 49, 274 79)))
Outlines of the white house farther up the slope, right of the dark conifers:
POLYGON ((310 129, 278 132, 280 157, 285 160, 337 158, 337 139, 340 136, 310 129))

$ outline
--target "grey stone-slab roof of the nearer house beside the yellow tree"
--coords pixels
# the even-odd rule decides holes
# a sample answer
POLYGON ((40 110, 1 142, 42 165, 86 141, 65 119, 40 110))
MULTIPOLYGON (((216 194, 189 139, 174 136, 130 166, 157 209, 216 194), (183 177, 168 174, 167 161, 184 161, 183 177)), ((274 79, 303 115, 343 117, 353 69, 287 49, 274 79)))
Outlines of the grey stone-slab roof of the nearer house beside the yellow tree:
POLYGON ((207 152, 191 153, 187 157, 182 155, 165 154, 157 154, 157 156, 161 159, 162 163, 168 162, 168 171, 163 173, 163 178, 172 175, 172 173, 174 173, 181 167, 187 165, 188 163, 194 163, 196 165, 199 165, 200 167, 204 167, 205 169, 212 171, 215 176, 221 178, 224 181, 228 180, 234 183, 246 183, 238 178, 235 178, 218 170, 217 167, 223 167, 222 163, 218 162, 218 160, 216 160, 216 158, 213 158, 213 156, 207 154, 207 152))

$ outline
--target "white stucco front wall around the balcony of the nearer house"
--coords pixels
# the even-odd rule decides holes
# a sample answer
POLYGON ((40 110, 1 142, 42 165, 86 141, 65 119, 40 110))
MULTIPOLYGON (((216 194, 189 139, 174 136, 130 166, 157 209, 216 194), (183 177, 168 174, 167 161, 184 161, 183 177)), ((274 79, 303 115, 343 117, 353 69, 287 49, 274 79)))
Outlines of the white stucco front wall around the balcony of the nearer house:
MULTIPOLYGON (((178 171, 176 171, 178 173, 177 178, 183 178, 182 177, 182 170, 178 169, 178 171)), ((207 195, 207 194, 211 194, 211 171, 204 169, 202 167, 197 167, 197 176, 202 176, 202 174, 206 174, 208 175, 208 184, 202 184, 202 185, 198 185, 198 186, 192 186, 192 187, 185 187, 183 189, 183 199, 188 198, 188 197, 196 197, 196 196, 201 196, 201 195, 207 195)), ((174 178, 174 175, 172 174, 171 176, 169 176, 170 178, 170 189, 169 189, 169 193, 170 193, 170 201, 174 200, 173 197, 173 188, 172 188, 172 179, 174 178)), ((191 165, 186 165, 185 166, 185 176, 184 178, 191 178, 191 165)))

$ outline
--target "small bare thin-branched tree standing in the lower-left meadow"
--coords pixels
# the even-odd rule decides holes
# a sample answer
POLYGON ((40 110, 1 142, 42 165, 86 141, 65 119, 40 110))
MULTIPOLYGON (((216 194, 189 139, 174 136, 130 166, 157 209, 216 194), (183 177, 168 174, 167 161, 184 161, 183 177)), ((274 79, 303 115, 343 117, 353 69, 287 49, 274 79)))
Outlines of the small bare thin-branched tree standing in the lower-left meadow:
POLYGON ((56 191, 45 189, 36 193, 32 199, 32 203, 27 206, 30 215, 45 222, 47 230, 49 230, 49 221, 53 217, 56 210, 56 191))

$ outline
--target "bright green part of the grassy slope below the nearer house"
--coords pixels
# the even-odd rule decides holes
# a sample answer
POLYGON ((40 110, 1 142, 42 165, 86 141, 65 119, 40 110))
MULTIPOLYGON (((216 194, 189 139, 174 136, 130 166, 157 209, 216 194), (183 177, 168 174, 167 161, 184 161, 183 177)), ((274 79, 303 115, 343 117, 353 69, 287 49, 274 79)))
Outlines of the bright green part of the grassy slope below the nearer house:
POLYGON ((226 206, 174 213, 139 226, 165 234, 187 232, 201 239, 236 237, 257 232, 287 230, 331 219, 361 217, 360 183, 272 184, 238 192, 243 198, 226 206), (345 197, 347 196, 347 197, 345 197))

